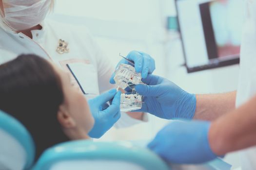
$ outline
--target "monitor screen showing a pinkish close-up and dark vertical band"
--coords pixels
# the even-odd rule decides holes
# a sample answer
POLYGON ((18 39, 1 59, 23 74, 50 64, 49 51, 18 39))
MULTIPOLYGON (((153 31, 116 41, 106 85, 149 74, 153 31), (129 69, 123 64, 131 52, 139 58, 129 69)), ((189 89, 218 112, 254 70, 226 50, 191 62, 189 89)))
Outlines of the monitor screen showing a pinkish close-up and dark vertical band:
POLYGON ((176 0, 188 72, 239 63, 243 0, 176 0))

